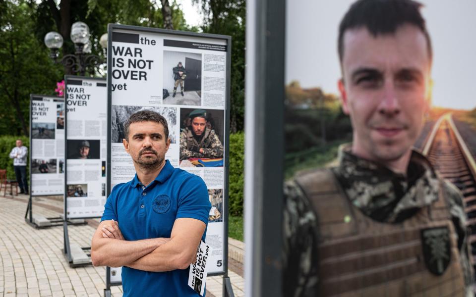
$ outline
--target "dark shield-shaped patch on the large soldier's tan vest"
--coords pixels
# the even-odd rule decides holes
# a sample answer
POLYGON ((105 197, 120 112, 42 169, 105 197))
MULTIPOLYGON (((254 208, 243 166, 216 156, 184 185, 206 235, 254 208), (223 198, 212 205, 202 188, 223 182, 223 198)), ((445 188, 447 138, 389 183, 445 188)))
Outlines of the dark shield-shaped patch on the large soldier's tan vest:
POLYGON ((451 260, 450 232, 448 227, 421 230, 421 246, 426 268, 434 275, 442 275, 451 260))

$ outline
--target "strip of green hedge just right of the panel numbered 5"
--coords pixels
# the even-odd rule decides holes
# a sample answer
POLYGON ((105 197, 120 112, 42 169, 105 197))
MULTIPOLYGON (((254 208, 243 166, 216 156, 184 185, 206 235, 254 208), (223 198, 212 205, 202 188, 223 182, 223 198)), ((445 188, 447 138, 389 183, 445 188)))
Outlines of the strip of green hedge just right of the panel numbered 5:
POLYGON ((230 134, 229 210, 231 215, 243 214, 244 133, 230 134))

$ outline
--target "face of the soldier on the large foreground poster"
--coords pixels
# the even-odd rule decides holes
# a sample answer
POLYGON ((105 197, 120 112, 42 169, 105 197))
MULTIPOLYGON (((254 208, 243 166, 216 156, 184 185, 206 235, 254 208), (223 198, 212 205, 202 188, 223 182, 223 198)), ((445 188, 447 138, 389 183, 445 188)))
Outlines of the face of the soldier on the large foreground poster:
POLYGON ((423 33, 411 25, 376 38, 366 28, 349 30, 342 68, 339 90, 354 129, 353 153, 382 162, 409 156, 429 101, 423 33))

